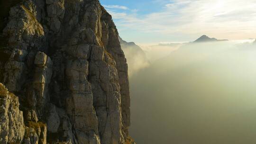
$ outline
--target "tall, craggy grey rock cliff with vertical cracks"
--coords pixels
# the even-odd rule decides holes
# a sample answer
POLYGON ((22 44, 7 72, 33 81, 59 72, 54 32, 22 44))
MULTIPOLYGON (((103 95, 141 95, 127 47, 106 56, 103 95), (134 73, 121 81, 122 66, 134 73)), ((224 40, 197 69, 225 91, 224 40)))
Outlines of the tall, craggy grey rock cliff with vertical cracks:
POLYGON ((1 7, 0 144, 133 143, 128 66, 100 2, 1 7))

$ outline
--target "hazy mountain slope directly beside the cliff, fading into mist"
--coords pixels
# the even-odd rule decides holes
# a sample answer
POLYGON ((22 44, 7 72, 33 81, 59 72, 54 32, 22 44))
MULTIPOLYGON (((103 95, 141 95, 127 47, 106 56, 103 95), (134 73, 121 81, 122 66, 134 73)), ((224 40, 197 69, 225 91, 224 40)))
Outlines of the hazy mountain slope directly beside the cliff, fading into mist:
POLYGON ((121 48, 126 55, 128 63, 128 73, 131 76, 134 72, 137 72, 149 65, 149 61, 145 52, 136 45, 134 42, 126 42, 119 37, 121 48))

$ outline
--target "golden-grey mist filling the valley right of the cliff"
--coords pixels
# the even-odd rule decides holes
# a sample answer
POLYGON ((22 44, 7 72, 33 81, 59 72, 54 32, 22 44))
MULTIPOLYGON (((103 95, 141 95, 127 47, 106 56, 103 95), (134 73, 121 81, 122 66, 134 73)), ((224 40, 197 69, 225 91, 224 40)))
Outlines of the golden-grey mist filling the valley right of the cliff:
POLYGON ((165 45, 166 51, 130 76, 135 141, 256 144, 256 45, 229 41, 173 48, 165 45))

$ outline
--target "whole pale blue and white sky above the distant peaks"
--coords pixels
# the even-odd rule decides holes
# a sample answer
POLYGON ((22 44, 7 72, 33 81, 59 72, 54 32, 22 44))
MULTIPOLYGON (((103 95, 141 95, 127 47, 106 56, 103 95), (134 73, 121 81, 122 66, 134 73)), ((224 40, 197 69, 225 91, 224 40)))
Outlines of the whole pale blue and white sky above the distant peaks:
POLYGON ((137 44, 188 42, 201 35, 256 38, 256 0, 100 0, 119 35, 137 44))

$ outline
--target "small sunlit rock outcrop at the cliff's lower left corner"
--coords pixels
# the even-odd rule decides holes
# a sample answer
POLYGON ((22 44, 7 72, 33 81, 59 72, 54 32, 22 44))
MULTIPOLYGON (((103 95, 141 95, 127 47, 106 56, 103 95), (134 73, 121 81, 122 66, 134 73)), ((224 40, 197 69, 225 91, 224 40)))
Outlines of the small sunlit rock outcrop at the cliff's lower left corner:
POLYGON ((0 144, 21 143, 25 127, 18 97, 0 83, 0 144))

